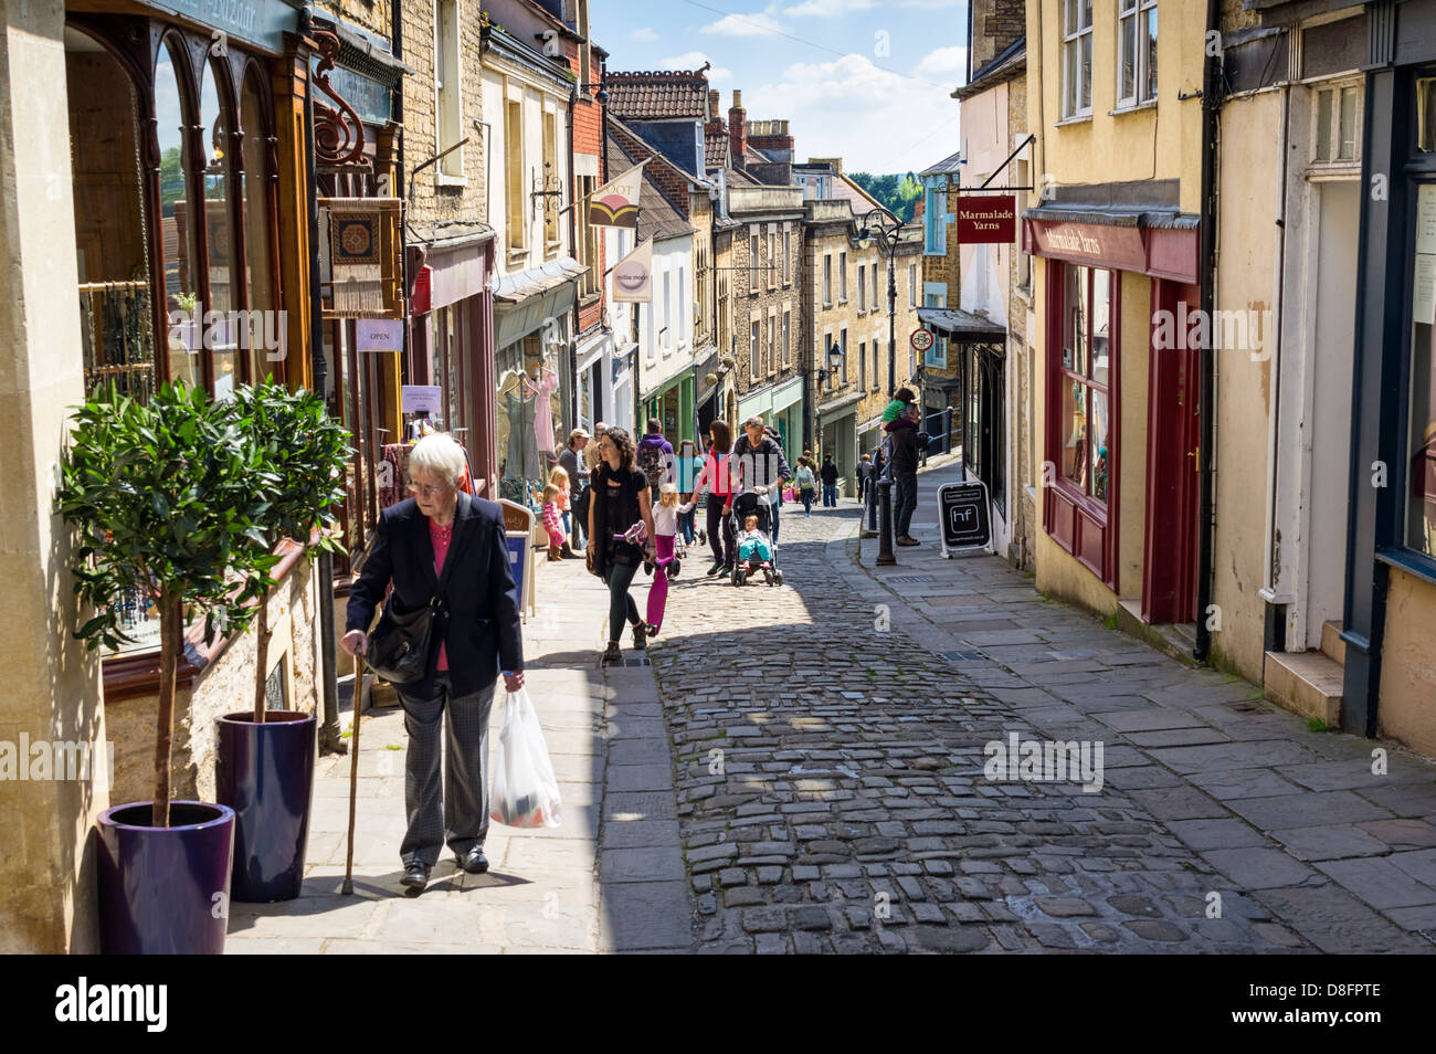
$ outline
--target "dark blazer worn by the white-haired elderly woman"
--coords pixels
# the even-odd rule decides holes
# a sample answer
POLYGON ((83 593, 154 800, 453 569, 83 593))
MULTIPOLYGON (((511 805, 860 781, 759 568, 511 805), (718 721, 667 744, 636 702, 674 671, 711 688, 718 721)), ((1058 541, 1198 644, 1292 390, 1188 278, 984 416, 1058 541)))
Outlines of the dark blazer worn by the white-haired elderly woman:
MULTIPOLYGON (((524 666, 518 589, 508 566, 504 517, 497 504, 460 493, 454 537, 444 567, 448 570, 444 643, 449 678, 455 695, 468 695, 490 688, 500 669, 524 666), (451 570, 449 560, 458 561, 451 570)), ((383 600, 391 582, 393 593, 389 603, 396 605, 395 613, 425 607, 438 584, 429 521, 414 498, 379 514, 369 556, 359 579, 349 587, 346 630, 369 630, 375 607, 383 600)), ((435 646, 425 679, 405 685, 404 692, 431 695, 438 661, 439 649, 435 646)))

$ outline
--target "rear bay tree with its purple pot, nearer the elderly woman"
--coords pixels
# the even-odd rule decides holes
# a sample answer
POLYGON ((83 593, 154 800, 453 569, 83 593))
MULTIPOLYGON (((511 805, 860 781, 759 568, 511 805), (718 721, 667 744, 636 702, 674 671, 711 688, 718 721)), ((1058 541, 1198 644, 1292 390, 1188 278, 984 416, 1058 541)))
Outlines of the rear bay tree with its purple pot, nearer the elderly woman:
MULTIPOLYGON (((280 541, 302 559, 339 551, 335 507, 345 497, 349 434, 310 391, 269 381, 234 392, 236 409, 271 480, 254 557, 280 541)), ((333 603, 320 596, 319 603, 333 603)), ((267 709, 269 605, 256 613, 254 705, 218 721, 215 796, 236 813, 231 896, 241 902, 292 900, 304 877, 309 807, 314 785, 314 714, 267 709)))

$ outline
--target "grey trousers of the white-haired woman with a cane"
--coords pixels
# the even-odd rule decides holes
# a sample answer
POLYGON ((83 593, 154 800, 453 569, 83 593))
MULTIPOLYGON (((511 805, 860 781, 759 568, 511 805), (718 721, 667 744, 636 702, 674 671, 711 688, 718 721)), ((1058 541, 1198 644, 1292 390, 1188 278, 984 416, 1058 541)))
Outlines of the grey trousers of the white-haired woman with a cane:
POLYGON ((448 673, 435 679, 438 694, 415 698, 399 692, 409 751, 404 761, 404 808, 409 829, 399 846, 408 866, 438 863, 444 843, 462 856, 488 834, 488 714, 494 686, 454 698, 448 673), (448 709, 448 721, 444 711, 448 709), (444 794, 439 796, 439 725, 444 734, 444 794))

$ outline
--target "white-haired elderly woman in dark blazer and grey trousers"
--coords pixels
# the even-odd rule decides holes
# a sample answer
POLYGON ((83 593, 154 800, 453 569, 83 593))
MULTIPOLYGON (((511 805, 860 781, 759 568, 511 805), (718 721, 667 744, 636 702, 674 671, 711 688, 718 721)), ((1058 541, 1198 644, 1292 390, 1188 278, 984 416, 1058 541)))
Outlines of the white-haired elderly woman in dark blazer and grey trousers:
POLYGON ((448 435, 419 439, 409 454, 412 498, 391 505, 373 528, 369 554, 349 590, 343 648, 368 648, 375 607, 393 586, 395 615, 442 600, 424 676, 398 686, 409 751, 404 771, 408 831, 401 882, 422 890, 447 841, 458 866, 488 870, 488 715, 500 671, 508 691, 524 684, 518 590, 508 566, 500 507, 460 490, 464 451, 448 435), (447 572, 447 574, 445 574, 447 572), (442 577, 441 577, 442 576, 442 577), (442 587, 441 587, 442 586, 442 587), (448 709, 444 793, 439 735, 448 709))

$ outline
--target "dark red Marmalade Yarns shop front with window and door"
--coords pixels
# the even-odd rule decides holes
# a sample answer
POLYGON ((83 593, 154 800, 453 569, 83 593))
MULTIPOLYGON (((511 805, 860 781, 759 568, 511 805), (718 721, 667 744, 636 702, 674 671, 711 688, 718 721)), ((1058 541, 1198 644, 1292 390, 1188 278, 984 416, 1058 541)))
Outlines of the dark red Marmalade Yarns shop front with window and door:
MULTIPOLYGON (((1147 623, 1192 622, 1198 350, 1166 346, 1160 319, 1198 303, 1196 218, 1031 208, 1024 248, 1043 261, 1038 589, 1106 613, 1126 602, 1147 623)), ((982 421, 999 369, 984 355, 969 352, 964 369, 964 462, 1001 474, 1001 439, 982 421)))

